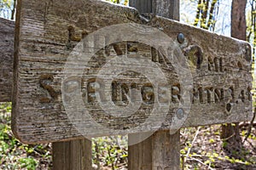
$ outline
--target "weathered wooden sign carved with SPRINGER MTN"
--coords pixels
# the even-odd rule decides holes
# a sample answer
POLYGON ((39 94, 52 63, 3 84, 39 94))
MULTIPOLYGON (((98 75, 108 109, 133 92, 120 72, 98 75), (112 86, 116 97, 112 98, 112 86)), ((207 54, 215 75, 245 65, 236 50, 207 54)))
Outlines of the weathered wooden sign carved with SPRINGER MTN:
POLYGON ((252 116, 247 42, 101 1, 22 0, 17 13, 12 123, 25 143, 252 116))

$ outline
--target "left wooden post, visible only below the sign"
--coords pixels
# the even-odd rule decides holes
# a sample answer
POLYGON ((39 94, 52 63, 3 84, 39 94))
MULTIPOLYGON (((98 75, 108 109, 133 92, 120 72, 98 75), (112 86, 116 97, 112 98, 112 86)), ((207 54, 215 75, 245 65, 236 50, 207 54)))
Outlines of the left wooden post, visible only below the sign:
POLYGON ((91 141, 78 139, 53 143, 54 170, 90 170, 91 141))

